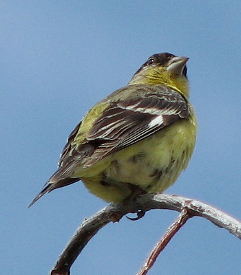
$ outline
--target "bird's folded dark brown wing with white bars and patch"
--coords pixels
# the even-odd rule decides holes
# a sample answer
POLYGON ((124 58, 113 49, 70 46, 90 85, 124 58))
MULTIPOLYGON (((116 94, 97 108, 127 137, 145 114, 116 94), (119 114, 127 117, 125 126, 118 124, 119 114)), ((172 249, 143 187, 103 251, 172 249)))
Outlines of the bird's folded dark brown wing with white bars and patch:
POLYGON ((139 91, 140 96, 112 102, 85 133, 82 144, 74 142, 78 135, 83 135, 79 124, 63 150, 60 166, 72 171, 78 164, 90 167, 103 157, 189 117, 187 101, 177 91, 163 86, 148 89, 148 94, 139 91))

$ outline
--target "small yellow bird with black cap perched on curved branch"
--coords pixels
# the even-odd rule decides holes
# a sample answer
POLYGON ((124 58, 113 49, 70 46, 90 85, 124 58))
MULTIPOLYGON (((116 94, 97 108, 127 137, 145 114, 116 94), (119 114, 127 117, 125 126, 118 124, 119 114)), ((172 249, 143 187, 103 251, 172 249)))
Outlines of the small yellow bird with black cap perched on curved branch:
POLYGON ((187 167, 196 142, 187 57, 154 54, 127 86, 87 112, 63 148, 59 169, 30 203, 83 181, 94 195, 121 203, 163 192, 187 167))

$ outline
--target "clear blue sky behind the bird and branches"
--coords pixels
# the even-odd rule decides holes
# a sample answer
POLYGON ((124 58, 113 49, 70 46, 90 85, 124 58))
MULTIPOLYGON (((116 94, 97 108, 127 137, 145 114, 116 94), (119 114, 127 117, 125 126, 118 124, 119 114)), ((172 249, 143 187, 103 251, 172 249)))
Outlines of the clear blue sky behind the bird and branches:
MULTIPOLYGON (((241 219, 240 1, 1 1, 2 274, 48 274, 78 225, 107 203, 81 182, 28 204, 56 170, 67 136, 151 54, 189 56, 198 140, 168 193, 241 219)), ((75 274, 136 274, 177 213, 123 218, 90 241, 75 274)), ((149 272, 241 272, 241 242, 193 218, 149 272)))

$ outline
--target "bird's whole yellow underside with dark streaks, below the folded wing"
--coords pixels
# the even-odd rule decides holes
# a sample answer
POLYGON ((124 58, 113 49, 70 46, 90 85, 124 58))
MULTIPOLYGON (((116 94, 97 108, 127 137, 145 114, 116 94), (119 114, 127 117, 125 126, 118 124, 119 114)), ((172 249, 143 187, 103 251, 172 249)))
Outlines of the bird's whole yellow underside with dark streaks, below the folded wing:
POLYGON ((102 170, 96 174, 96 180, 85 178, 83 182, 105 201, 120 202, 125 199, 132 192, 127 184, 138 186, 145 192, 163 192, 187 167, 195 144, 193 131, 188 120, 174 123, 109 155, 101 161, 105 168, 101 165, 102 170))

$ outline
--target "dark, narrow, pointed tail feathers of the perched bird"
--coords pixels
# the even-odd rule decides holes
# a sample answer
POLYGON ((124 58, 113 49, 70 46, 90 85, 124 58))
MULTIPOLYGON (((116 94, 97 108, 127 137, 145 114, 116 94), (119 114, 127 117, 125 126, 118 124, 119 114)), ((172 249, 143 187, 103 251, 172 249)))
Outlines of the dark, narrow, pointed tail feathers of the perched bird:
POLYGON ((43 195, 45 195, 46 193, 51 192, 52 190, 56 189, 56 188, 61 188, 63 186, 67 186, 70 184, 74 184, 74 182, 80 180, 79 178, 74 178, 71 179, 70 177, 67 177, 66 179, 61 179, 59 181, 51 181, 51 179, 45 184, 43 190, 41 190, 41 192, 39 192, 38 195, 36 195, 36 197, 32 200, 32 202, 30 203, 30 205, 28 206, 28 208, 30 208, 34 203, 36 203, 36 201, 38 199, 40 199, 41 197, 43 197, 43 195))

